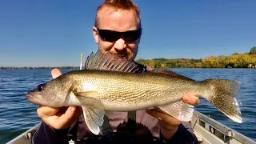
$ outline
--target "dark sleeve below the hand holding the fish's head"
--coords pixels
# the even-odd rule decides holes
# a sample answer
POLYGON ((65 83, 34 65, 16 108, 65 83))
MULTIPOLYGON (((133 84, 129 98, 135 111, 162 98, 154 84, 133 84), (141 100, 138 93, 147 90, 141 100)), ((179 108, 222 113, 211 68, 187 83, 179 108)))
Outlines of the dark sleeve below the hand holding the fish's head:
POLYGON ((69 128, 63 130, 55 130, 54 128, 46 125, 45 122, 41 123, 38 131, 36 131, 32 137, 32 144, 51 144, 51 143, 63 143, 67 144, 69 128))

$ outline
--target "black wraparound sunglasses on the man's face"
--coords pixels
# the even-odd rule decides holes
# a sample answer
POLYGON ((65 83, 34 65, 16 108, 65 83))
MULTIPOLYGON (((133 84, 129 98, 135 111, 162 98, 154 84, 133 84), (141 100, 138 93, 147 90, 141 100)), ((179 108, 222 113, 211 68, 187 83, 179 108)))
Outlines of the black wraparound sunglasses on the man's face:
POLYGON ((107 42, 116 42, 119 38, 122 38, 126 42, 136 41, 142 34, 142 28, 138 30, 129 30, 125 32, 118 32, 114 30, 102 30, 98 29, 99 36, 107 42))

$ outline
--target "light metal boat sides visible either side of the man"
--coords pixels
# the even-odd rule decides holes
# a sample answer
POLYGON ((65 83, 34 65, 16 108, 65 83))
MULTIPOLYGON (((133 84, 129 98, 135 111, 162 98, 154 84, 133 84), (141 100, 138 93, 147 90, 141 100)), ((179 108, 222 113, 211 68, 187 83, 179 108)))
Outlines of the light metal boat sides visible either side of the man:
MULTIPOLYGON (((10 140, 7 144, 30 144, 32 135, 38 130, 40 124, 41 122, 10 140)), ((191 127, 200 144, 256 144, 253 139, 196 110, 194 110, 191 120, 191 127)), ((70 143, 74 143, 74 141, 70 141, 70 143)))

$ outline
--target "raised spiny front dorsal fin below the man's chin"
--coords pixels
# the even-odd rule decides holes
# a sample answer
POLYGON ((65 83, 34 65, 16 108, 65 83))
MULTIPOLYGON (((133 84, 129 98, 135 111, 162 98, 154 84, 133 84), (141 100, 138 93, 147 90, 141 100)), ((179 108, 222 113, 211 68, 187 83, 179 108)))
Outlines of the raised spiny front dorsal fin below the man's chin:
POLYGON ((117 54, 102 53, 98 50, 95 54, 92 52, 85 62, 85 70, 112 70, 130 73, 145 72, 146 66, 139 65, 126 58, 120 58, 117 54))

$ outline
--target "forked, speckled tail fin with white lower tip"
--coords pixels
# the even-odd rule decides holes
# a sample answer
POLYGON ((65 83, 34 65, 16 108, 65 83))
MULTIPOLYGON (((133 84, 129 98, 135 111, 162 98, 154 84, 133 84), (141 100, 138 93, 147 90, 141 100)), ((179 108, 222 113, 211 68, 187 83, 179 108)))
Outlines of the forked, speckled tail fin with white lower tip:
POLYGON ((240 82, 226 79, 209 79, 212 93, 207 100, 234 122, 242 123, 242 114, 235 96, 240 90, 240 82))

